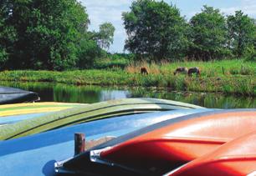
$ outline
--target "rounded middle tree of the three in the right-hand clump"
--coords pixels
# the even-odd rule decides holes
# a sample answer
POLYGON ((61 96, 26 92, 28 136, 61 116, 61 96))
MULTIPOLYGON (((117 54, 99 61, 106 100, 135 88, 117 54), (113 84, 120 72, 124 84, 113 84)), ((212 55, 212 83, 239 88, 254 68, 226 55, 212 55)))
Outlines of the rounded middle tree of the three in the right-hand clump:
POLYGON ((207 61, 227 56, 225 18, 218 9, 204 6, 189 24, 189 58, 207 61))

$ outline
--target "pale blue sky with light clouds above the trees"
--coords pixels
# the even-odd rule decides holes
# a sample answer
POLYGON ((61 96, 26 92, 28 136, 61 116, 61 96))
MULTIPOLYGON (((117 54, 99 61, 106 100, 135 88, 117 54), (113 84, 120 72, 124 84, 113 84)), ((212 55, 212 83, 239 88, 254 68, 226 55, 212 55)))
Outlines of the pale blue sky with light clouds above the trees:
MULTIPOLYGON (((176 5, 182 16, 187 20, 196 13, 200 13, 202 6, 219 8, 224 14, 233 14, 242 10, 251 18, 256 18, 256 0, 164 0, 176 5)), ((102 23, 110 22, 115 26, 114 43, 110 46, 110 53, 123 53, 125 45, 125 29, 121 13, 129 12, 133 0, 79 0, 85 7, 90 18, 89 29, 99 31, 102 23)))

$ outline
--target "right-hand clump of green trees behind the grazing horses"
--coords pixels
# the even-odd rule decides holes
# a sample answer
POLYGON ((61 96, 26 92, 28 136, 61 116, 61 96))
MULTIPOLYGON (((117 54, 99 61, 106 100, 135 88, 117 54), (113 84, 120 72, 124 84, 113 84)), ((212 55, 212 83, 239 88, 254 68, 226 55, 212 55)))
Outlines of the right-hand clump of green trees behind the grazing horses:
POLYGON ((122 16, 128 34, 125 49, 139 59, 256 58, 255 21, 242 11, 224 16, 204 6, 187 22, 175 6, 139 0, 122 16))

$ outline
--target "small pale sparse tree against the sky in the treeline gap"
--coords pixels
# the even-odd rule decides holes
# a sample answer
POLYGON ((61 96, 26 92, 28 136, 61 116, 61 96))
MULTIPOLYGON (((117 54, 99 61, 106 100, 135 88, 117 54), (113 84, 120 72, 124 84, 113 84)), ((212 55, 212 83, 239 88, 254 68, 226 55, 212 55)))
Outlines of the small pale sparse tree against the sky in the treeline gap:
POLYGON ((110 48, 110 44, 114 42, 114 33, 115 27, 112 23, 103 23, 100 25, 100 32, 96 33, 96 40, 100 48, 110 48))

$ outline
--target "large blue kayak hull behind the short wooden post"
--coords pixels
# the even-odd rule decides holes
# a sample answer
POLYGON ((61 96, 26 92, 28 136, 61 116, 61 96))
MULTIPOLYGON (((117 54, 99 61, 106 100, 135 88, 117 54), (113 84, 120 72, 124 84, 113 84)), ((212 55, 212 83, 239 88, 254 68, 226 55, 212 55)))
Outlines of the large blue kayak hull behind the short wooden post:
POLYGON ((119 137, 153 123, 215 109, 174 110, 106 118, 59 128, 45 133, 0 142, 0 170, 3 175, 54 175, 54 163, 74 156, 74 133, 86 140, 119 137))

